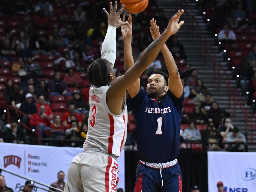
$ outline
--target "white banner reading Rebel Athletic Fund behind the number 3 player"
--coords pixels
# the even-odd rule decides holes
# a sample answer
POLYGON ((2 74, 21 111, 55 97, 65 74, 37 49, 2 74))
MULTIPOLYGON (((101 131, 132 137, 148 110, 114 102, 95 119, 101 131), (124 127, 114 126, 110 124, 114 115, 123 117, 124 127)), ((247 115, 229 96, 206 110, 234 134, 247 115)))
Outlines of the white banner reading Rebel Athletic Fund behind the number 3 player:
MULTIPOLYGON (((61 170, 66 174, 72 159, 83 152, 83 148, 51 147, 38 145, 22 145, 13 143, 0 143, 0 169, 4 169, 32 180, 50 185, 57 181, 57 173, 61 170)), ((117 188, 125 191, 124 150, 117 158, 119 166, 119 183, 117 188)), ((2 171, 6 186, 17 192, 23 189, 25 179, 2 171)), ((38 185, 38 184, 36 184, 38 185)), ((38 185, 41 187, 41 185, 38 185)), ((44 187, 45 188, 45 187, 44 187)), ((43 192, 35 188, 33 192, 43 192)))

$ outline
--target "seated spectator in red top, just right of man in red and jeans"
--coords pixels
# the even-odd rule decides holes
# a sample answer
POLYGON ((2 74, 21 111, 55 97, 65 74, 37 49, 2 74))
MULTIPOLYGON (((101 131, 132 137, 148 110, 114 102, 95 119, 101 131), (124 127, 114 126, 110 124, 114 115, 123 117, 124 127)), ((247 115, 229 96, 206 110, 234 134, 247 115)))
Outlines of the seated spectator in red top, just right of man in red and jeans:
MULTIPOLYGON (((61 124, 59 115, 55 116, 54 121, 50 126, 50 130, 46 131, 46 133, 49 136, 49 138, 52 138, 52 139, 65 138, 65 130, 63 125, 61 124)), ((50 141, 50 145, 59 146, 60 141, 59 140, 50 141)))

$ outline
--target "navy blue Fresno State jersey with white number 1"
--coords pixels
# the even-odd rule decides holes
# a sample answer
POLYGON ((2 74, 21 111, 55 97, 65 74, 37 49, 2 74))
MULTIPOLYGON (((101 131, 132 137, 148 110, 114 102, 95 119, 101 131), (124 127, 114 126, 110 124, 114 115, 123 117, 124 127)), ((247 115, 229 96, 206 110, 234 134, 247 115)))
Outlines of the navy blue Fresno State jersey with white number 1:
POLYGON ((183 100, 184 93, 178 99, 168 91, 157 101, 143 89, 131 100, 142 161, 165 163, 178 157, 183 100))

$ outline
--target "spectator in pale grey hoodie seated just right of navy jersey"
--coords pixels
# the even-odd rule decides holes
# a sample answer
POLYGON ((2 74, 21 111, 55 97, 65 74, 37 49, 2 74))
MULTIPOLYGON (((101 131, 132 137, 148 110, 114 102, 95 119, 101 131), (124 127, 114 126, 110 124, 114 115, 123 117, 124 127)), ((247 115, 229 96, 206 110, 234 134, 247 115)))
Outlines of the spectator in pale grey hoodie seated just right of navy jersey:
POLYGON ((185 141, 199 141, 201 140, 201 134, 198 129, 195 129, 195 123, 193 120, 189 120, 189 127, 187 127, 182 134, 185 141))

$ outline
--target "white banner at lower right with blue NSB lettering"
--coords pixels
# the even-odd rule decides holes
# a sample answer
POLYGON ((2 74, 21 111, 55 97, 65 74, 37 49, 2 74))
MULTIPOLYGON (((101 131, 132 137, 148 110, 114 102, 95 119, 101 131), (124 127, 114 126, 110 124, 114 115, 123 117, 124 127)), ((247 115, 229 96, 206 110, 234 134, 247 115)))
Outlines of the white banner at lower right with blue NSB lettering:
POLYGON ((217 182, 224 192, 256 191, 256 153, 208 152, 208 192, 217 192, 217 182))

